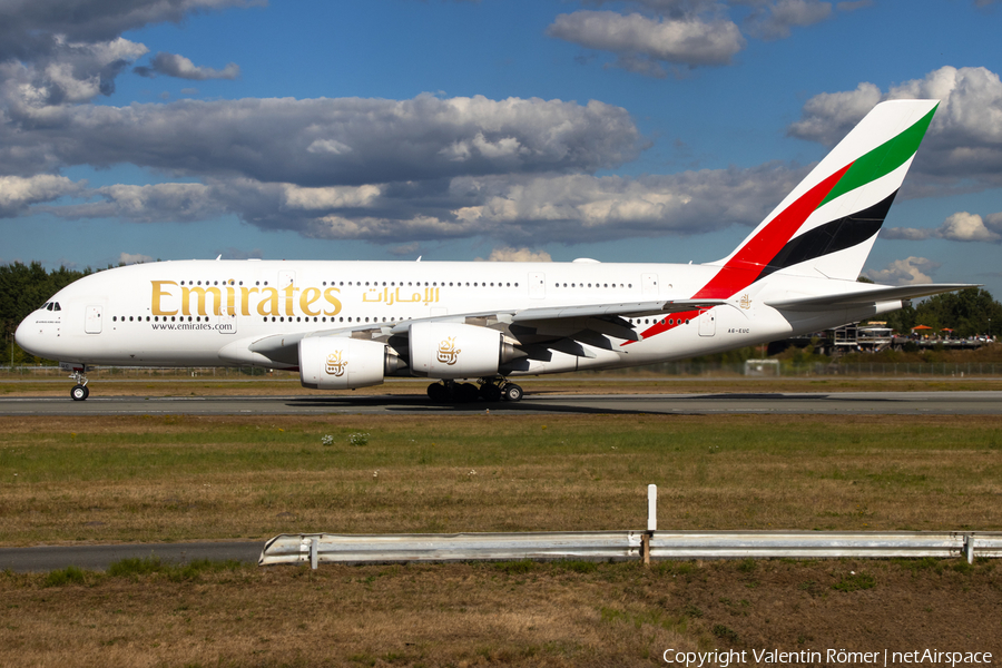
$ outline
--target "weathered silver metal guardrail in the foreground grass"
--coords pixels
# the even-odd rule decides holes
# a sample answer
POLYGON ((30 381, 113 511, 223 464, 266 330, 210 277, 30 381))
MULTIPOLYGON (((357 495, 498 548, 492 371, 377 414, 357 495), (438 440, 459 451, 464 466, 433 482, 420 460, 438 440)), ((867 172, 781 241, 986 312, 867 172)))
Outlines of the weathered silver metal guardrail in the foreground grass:
POLYGON ((259 566, 587 559, 1002 557, 1002 532, 568 531, 538 533, 282 534, 259 566), (649 547, 648 547, 649 546, 649 547), (646 552, 646 553, 645 553, 646 552))

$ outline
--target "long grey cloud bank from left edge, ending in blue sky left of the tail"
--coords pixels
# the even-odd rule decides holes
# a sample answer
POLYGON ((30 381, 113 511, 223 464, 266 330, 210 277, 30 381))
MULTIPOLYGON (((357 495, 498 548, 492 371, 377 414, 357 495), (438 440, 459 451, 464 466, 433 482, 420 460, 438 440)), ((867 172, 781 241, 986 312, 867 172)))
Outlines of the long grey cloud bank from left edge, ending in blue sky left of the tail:
POLYGON ((593 100, 421 95, 11 111, 0 126, 0 168, 18 171, 129 163, 203 178, 334 186, 590 171, 631 160, 641 148, 629 114, 593 100), (466 159, 442 155, 455 144, 469 145, 466 159))

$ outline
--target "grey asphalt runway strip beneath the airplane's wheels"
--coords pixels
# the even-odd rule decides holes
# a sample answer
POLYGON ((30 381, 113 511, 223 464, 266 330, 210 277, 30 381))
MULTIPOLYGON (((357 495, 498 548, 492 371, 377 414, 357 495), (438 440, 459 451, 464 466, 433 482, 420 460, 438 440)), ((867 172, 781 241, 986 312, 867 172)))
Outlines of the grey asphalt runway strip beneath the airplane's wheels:
POLYGON ((0 399, 0 415, 420 415, 505 414, 854 414, 991 415, 1002 392, 845 392, 728 394, 527 394, 517 403, 433 404, 421 395, 100 396, 0 399))

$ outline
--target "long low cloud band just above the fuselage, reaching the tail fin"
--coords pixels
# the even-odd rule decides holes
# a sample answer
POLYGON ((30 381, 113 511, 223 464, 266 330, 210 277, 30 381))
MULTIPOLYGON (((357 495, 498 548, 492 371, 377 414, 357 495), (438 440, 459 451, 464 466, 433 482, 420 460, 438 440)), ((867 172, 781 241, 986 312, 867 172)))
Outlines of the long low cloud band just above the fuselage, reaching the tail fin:
MULTIPOLYGON (((483 236, 507 245, 537 246, 569 238, 596 242, 754 226, 805 171, 772 164, 638 178, 494 175, 456 177, 445 184, 323 188, 232 178, 73 187, 55 195, 82 202, 38 208, 68 219, 134 223, 190 223, 235 214, 263 229, 288 229, 307 237, 399 243, 483 236)), ((35 202, 48 199, 22 206, 35 202)))

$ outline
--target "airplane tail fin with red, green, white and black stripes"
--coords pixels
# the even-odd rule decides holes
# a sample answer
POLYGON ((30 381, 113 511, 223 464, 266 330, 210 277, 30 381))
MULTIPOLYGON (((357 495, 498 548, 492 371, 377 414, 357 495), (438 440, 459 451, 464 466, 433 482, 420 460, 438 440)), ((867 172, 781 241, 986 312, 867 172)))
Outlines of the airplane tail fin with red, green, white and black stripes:
POLYGON ((696 297, 726 298, 774 274, 855 281, 937 100, 874 107, 731 253, 696 297))

